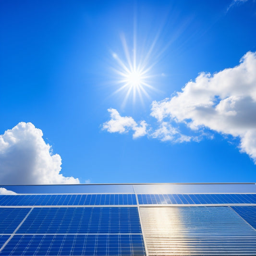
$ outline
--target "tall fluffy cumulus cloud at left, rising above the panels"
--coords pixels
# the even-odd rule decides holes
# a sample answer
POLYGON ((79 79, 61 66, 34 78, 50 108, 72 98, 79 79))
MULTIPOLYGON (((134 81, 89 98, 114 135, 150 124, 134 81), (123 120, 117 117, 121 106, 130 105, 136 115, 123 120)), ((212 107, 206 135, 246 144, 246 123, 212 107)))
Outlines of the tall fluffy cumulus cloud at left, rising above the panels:
POLYGON ((42 136, 42 131, 30 122, 20 122, 0 135, 0 183, 79 183, 60 174, 61 156, 52 154, 42 136))

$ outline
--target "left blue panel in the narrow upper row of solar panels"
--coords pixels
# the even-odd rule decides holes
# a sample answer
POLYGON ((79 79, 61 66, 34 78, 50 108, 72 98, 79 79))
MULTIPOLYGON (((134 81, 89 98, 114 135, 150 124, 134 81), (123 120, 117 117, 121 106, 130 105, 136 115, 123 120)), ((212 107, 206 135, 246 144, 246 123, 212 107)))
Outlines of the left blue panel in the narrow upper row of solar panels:
POLYGON ((1 206, 136 205, 134 194, 0 195, 1 206))

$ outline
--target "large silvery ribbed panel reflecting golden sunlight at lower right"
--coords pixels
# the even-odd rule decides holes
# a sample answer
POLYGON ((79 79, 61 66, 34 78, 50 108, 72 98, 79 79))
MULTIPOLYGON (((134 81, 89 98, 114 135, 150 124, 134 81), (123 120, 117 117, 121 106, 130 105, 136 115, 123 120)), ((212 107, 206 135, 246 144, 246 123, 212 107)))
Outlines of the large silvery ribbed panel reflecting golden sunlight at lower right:
POLYGON ((229 207, 140 207, 148 255, 256 255, 256 231, 229 207))

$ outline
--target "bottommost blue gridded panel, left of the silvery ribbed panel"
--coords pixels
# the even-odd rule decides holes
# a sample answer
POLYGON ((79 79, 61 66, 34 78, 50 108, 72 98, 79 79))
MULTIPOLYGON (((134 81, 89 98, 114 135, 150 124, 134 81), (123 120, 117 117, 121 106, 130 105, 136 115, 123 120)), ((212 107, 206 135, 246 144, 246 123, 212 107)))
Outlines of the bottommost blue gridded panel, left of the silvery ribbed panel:
POLYGON ((14 235, 0 255, 143 256, 142 235, 14 235))

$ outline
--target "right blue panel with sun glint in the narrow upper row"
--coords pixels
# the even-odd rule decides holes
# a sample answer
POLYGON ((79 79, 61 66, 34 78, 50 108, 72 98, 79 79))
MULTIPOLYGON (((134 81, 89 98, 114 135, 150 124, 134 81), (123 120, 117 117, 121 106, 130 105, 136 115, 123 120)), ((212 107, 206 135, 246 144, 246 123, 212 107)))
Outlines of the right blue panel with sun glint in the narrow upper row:
POLYGON ((138 194, 138 203, 147 204, 256 204, 255 194, 138 194))

